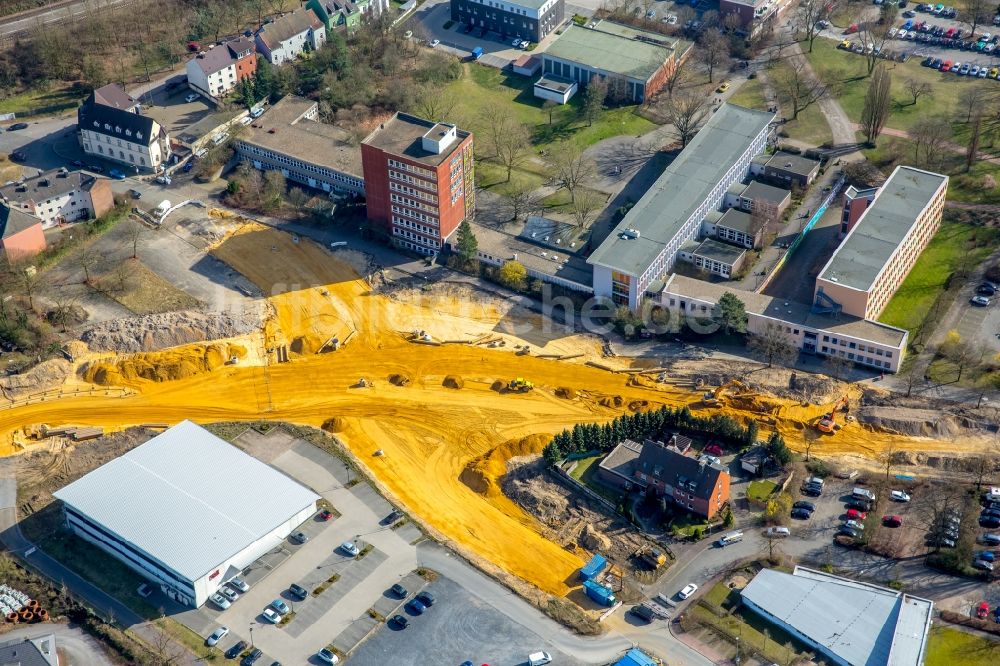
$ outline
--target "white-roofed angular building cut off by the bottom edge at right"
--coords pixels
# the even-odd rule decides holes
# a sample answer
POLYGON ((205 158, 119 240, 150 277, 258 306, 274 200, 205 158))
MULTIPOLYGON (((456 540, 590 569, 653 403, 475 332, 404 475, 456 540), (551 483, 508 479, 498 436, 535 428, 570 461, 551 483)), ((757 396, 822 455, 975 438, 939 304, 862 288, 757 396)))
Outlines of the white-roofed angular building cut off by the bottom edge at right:
POLYGON ((920 666, 934 602, 880 585, 795 567, 764 569, 743 603, 842 666, 920 666))

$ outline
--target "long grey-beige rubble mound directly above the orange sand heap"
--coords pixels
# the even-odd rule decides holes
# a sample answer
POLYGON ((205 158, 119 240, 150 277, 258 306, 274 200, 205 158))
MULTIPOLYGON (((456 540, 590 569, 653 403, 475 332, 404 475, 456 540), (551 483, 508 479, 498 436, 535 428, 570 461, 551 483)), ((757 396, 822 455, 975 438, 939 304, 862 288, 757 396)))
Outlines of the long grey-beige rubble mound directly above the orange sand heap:
POLYGON ((256 311, 182 310, 100 322, 80 339, 94 351, 135 353, 232 338, 256 331, 260 326, 256 311))

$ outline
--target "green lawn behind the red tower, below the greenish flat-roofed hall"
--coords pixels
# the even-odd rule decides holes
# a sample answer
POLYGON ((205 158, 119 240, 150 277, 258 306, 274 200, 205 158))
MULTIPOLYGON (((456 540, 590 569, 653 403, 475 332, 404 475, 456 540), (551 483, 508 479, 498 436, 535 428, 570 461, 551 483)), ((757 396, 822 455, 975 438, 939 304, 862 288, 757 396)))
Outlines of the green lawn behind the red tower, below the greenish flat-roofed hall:
POLYGON ((620 134, 645 134, 656 127, 653 122, 636 115, 635 106, 607 109, 588 126, 579 117, 582 92, 569 104, 555 107, 549 124, 549 113, 542 108, 543 100, 534 96, 532 84, 527 77, 467 63, 463 76, 449 84, 448 91, 460 100, 464 122, 473 132, 481 131, 481 114, 485 109, 502 108, 517 122, 528 126, 532 144, 539 149, 562 140, 586 147, 620 134))

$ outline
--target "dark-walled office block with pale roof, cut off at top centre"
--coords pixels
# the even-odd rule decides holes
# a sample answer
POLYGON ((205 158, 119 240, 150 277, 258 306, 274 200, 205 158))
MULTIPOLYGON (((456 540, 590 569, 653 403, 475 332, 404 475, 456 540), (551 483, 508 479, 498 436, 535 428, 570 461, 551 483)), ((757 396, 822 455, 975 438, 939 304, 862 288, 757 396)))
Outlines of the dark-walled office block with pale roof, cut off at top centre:
POLYGON ((566 18, 566 0, 451 0, 451 20, 510 37, 540 42, 566 18))

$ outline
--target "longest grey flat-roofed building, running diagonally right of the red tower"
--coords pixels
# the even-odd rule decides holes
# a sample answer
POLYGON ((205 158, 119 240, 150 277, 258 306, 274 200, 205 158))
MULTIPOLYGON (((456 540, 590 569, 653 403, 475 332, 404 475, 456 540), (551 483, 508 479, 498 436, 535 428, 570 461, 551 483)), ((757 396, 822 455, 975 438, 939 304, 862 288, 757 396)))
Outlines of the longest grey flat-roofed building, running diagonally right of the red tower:
POLYGON ((637 309, 646 288, 673 269, 681 245, 746 177, 773 120, 770 112, 723 104, 594 250, 594 295, 637 309))

